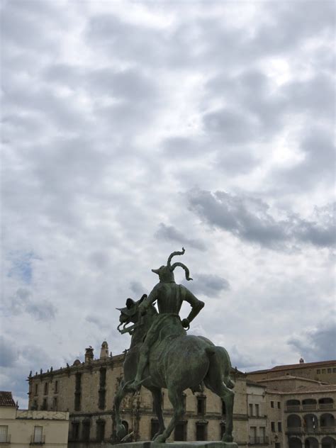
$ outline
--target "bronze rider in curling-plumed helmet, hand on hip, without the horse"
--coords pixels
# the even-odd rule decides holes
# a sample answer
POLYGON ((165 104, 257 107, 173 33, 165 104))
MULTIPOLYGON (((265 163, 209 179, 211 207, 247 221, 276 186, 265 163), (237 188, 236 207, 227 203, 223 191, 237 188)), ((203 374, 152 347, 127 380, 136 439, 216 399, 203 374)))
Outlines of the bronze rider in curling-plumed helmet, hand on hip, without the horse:
POLYGON ((173 252, 169 255, 167 266, 159 267, 159 269, 152 269, 152 272, 159 275, 159 283, 155 285, 150 295, 140 303, 139 312, 140 314, 145 314, 146 308, 157 301, 159 314, 152 323, 150 330, 148 330, 140 349, 137 374, 134 381, 128 386, 134 390, 137 390, 143 382, 142 374, 148 363, 150 347, 152 347, 154 342, 159 339, 159 332, 162 330, 162 327, 172 324, 172 332, 175 332, 176 330, 174 330, 174 326, 177 325, 177 327, 180 328, 178 332, 181 334, 181 327, 188 329, 191 321, 196 318, 196 315, 198 315, 204 306, 204 302, 198 300, 189 289, 186 289, 183 285, 177 285, 175 283, 173 271, 177 266, 182 267, 184 271, 186 271, 187 280, 192 280, 189 277, 189 269, 183 263, 177 262, 173 265, 170 264, 172 257, 183 254, 184 248, 182 247, 182 252, 173 252), (181 310, 183 301, 190 303, 191 312, 189 313, 188 318, 180 320, 179 310, 181 310))

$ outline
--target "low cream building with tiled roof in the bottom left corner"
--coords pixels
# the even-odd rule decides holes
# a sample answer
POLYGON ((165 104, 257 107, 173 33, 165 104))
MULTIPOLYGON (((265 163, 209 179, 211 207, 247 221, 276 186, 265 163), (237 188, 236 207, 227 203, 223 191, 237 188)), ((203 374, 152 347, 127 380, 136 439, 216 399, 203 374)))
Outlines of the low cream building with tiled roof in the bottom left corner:
POLYGON ((18 410, 11 392, 0 391, 0 444, 30 448, 67 448, 69 413, 18 410))

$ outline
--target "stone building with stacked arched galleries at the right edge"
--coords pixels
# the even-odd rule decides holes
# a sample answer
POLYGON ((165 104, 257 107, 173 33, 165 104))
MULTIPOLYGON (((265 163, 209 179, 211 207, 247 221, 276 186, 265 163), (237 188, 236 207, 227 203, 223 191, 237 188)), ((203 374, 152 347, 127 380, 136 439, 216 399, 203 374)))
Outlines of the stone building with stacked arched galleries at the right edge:
POLYGON ((335 362, 302 364, 301 360, 301 364, 290 365, 288 369, 281 366, 247 375, 265 388, 269 442, 274 448, 335 448, 336 384, 332 376, 335 362), (328 375, 334 383, 310 379, 319 375, 317 371, 328 375), (304 376, 293 376, 290 372, 304 376), (257 379, 259 374, 263 379, 257 379))

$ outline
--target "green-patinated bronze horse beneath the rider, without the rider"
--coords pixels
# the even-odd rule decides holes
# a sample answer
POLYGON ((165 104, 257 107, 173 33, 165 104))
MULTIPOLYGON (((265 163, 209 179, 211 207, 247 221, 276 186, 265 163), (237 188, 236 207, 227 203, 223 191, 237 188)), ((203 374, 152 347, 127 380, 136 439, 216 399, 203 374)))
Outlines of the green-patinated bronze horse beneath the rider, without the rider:
MULTIPOLYGON (((126 435, 121 422, 121 401, 126 394, 134 393, 131 384, 137 374, 140 349, 153 320, 158 315, 153 303, 147 303, 146 313, 143 313, 141 304, 146 298, 145 294, 138 301, 128 298, 126 306, 118 308, 121 311, 118 331, 131 335, 130 349, 123 363, 124 377, 114 399, 119 440, 126 435)), ((201 386, 205 385, 225 403, 227 420, 222 442, 233 442, 234 383, 230 379, 231 362, 228 352, 223 347, 216 347, 206 337, 187 335, 178 315, 173 323, 169 323, 169 331, 164 330, 162 325, 162 331, 150 349, 148 364, 141 381, 141 386, 152 393, 159 422, 159 430, 152 440, 165 442, 181 420, 184 413, 183 391, 188 388, 193 392, 201 391, 201 386), (168 389, 169 400, 174 409, 167 428, 164 427, 162 416, 162 388, 168 389)))

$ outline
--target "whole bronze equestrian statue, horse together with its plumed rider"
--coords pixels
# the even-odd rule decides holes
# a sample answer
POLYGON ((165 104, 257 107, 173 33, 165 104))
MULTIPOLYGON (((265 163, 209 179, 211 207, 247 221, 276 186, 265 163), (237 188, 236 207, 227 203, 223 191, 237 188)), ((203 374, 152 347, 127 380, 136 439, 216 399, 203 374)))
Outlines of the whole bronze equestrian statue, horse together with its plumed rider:
POLYGON ((159 430, 152 440, 165 442, 184 413, 183 392, 188 388, 193 393, 202 391, 206 386, 225 403, 222 442, 233 442, 234 382, 230 378, 230 357, 223 347, 215 346, 206 337, 186 334, 204 303, 185 286, 175 283, 176 267, 184 269, 186 280, 192 280, 183 263, 171 264, 173 257, 183 254, 184 248, 173 252, 167 266, 152 269, 158 274, 159 283, 149 296, 144 294, 138 301, 128 298, 124 308, 117 308, 121 312, 118 331, 131 335, 130 349, 123 364, 123 380, 114 399, 118 439, 126 435, 120 415, 121 401, 126 394, 135 393, 141 386, 152 393, 159 422, 159 430), (190 304, 191 312, 181 320, 179 311, 184 301, 190 304), (167 428, 162 415, 162 388, 167 388, 174 410, 167 428))

